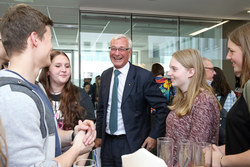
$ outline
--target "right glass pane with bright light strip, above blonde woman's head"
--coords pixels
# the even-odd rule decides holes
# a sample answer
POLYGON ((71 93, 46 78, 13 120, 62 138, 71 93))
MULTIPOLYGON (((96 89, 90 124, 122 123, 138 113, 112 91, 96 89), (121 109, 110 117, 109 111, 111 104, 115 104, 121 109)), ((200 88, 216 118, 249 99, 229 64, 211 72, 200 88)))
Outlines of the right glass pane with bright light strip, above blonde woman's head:
POLYGON ((180 49, 197 49, 214 66, 222 67, 222 26, 211 28, 219 23, 218 20, 180 19, 180 49))

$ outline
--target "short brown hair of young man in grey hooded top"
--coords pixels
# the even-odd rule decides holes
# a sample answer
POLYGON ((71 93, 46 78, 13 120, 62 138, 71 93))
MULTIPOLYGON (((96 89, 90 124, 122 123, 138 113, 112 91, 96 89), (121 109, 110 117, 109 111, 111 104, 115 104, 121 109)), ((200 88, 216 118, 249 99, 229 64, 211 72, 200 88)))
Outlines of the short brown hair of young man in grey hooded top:
POLYGON ((29 5, 10 7, 3 15, 0 26, 7 55, 21 53, 27 47, 27 39, 32 32, 36 32, 42 40, 47 25, 52 26, 53 21, 29 5))

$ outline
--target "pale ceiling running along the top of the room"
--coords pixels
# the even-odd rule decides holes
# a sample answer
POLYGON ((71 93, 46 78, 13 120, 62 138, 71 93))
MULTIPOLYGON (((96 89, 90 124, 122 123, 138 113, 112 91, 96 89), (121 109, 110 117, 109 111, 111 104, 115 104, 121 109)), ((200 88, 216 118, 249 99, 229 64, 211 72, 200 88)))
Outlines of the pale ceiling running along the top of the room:
MULTIPOLYGON (((79 10, 250 20, 250 0, 33 0, 28 3, 52 18, 61 46, 77 49, 79 10), (70 25, 66 29, 61 25, 70 25)), ((0 0, 0 17, 14 0, 0 0)), ((56 41, 53 41, 56 43, 56 41)), ((55 44, 54 44, 55 47, 55 44)))

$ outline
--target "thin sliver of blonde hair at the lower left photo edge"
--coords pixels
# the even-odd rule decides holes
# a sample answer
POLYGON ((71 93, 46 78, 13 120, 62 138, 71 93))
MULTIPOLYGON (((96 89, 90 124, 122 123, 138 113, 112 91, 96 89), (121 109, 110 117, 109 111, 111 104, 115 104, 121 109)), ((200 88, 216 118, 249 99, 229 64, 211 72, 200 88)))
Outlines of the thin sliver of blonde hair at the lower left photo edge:
MULTIPOLYGON (((5 166, 8 166, 8 150, 7 150, 7 143, 6 143, 6 138, 5 138, 5 131, 3 128, 2 121, 0 119, 0 161, 3 160, 5 162, 5 166), (4 151, 5 150, 5 153, 4 151)), ((0 167, 2 167, 2 164, 0 162, 0 167)))

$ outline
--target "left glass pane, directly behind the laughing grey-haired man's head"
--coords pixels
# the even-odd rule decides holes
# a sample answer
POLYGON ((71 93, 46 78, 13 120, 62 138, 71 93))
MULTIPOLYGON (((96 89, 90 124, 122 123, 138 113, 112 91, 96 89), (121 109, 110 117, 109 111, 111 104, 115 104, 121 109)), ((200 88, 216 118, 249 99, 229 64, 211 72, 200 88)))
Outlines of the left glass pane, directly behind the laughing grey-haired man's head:
POLYGON ((104 70, 112 67, 109 59, 109 42, 115 34, 131 37, 130 15, 107 15, 81 13, 80 21, 80 85, 86 74, 94 78, 104 70))

